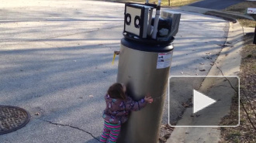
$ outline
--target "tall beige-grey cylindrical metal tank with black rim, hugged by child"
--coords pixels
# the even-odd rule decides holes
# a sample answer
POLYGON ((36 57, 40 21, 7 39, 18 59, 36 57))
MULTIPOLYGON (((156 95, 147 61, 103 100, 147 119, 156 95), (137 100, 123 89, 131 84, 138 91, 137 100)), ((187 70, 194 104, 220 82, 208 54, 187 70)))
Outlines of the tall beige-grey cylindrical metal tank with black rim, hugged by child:
POLYGON ((117 82, 126 85, 133 100, 149 93, 154 102, 130 114, 122 124, 118 143, 158 142, 172 50, 170 43, 145 44, 121 39, 117 82))

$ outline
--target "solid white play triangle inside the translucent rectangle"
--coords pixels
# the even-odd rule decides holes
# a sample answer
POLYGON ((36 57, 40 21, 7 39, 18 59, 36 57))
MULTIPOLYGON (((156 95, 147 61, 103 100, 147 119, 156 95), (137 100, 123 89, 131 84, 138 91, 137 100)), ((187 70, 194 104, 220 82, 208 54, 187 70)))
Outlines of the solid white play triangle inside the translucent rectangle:
POLYGON ((204 94, 199 93, 197 90, 193 90, 193 113, 201 111, 203 108, 208 107, 210 104, 214 104, 216 100, 207 97, 204 94))

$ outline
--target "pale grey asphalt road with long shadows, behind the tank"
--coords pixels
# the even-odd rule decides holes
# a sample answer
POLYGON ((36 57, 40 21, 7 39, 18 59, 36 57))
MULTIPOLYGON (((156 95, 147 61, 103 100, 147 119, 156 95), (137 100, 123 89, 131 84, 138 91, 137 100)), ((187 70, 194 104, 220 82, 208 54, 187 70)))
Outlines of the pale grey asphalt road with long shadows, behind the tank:
MULTIPOLYGON (((116 82, 118 56, 111 63, 123 37, 124 4, 3 0, 0 9, 0 104, 32 115, 26 127, 1 135, 0 142, 98 142, 103 96, 116 82)), ((171 75, 207 75, 212 62, 206 57, 215 60, 227 29, 223 19, 182 12, 171 75)))

